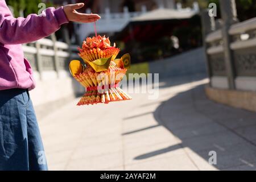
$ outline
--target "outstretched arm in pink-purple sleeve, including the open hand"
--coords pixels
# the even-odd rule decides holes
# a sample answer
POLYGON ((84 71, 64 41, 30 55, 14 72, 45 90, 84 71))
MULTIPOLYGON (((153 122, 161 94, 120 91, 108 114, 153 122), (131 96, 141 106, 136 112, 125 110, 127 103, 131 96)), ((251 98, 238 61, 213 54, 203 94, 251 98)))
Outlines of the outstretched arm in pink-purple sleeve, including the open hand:
POLYGON ((4 0, 0 0, 0 43, 23 44, 34 42, 59 30, 61 24, 70 21, 93 22, 100 19, 98 15, 77 13, 84 3, 67 5, 54 9, 50 7, 42 14, 28 15, 27 18, 14 18, 4 0))

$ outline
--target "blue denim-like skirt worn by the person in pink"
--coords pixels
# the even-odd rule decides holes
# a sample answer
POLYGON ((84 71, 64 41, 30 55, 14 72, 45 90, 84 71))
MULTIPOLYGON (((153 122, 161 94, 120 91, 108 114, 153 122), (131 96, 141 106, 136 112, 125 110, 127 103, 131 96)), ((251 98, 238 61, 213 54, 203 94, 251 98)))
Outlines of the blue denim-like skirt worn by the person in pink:
POLYGON ((47 169, 46 155, 28 90, 0 90, 0 170, 47 169))

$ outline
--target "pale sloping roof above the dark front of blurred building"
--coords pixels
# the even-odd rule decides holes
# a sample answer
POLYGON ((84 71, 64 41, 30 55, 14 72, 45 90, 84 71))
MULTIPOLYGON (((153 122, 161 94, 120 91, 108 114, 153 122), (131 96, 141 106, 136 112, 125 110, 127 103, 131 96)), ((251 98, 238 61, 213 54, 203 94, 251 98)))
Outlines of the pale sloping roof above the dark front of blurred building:
POLYGON ((197 14, 193 10, 157 9, 133 18, 132 22, 164 20, 164 19, 187 19, 197 14))

